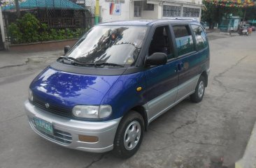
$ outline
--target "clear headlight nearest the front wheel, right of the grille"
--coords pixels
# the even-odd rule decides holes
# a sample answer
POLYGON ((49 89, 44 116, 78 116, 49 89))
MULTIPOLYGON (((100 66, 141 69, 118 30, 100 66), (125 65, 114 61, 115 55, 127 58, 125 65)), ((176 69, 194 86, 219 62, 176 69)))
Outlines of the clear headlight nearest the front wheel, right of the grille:
POLYGON ((73 107, 74 116, 85 119, 103 119, 111 115, 110 105, 77 105, 73 107))

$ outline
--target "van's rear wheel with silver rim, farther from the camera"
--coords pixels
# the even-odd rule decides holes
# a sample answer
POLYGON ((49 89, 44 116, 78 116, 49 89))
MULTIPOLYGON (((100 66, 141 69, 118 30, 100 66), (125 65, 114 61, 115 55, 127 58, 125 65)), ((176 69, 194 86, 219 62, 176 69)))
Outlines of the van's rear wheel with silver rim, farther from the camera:
POLYGON ((190 95, 190 100, 192 102, 201 102, 201 100, 203 100, 205 86, 206 80, 204 79, 204 76, 200 76, 194 93, 190 95))

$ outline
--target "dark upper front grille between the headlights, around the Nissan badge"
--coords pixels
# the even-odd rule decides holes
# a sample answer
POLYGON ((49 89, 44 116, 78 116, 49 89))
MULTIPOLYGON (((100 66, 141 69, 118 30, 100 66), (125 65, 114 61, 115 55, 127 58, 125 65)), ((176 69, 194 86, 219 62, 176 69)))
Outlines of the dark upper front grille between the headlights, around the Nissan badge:
POLYGON ((59 107, 59 106, 52 105, 52 104, 50 104, 50 106, 48 108, 46 108, 45 103, 46 103, 45 101, 43 101, 40 98, 37 98, 36 96, 34 96, 33 104, 36 105, 37 107, 40 107, 41 109, 44 109, 48 112, 51 112, 53 114, 57 114, 57 115, 60 115, 60 116, 67 116, 67 117, 72 116, 72 109, 66 109, 66 108, 59 107))

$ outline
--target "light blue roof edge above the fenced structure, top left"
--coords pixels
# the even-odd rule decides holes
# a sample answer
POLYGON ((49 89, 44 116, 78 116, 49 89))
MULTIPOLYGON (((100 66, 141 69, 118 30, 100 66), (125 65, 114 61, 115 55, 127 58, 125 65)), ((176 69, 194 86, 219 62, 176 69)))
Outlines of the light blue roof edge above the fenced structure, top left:
MULTIPOLYGON (((85 10, 82 6, 69 0, 27 0, 20 3, 21 10, 33 8, 85 10)), ((15 10, 15 5, 3 6, 2 10, 15 10)))

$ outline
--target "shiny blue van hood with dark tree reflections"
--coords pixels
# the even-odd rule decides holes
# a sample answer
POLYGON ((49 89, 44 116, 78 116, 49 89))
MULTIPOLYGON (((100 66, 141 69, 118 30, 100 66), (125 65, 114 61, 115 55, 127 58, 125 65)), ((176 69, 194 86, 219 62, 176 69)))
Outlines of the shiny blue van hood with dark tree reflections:
POLYGON ((46 68, 30 85, 34 98, 57 106, 100 105, 120 75, 81 75, 46 68))

